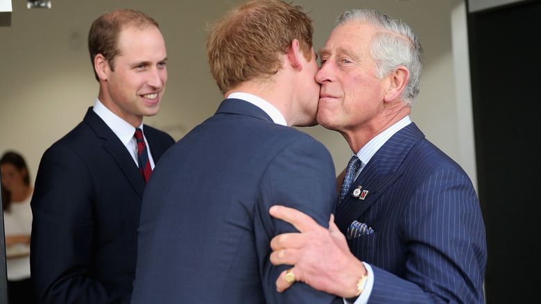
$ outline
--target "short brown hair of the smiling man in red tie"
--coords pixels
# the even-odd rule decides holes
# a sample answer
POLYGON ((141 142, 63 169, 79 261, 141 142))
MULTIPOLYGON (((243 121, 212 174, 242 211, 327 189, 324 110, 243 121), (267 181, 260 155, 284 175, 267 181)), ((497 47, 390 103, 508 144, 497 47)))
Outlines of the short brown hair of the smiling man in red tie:
MULTIPOLYGON (((90 31, 88 32, 88 51, 92 67, 94 67, 94 58, 101 54, 108 60, 112 70, 114 70, 114 58, 119 56, 118 40, 120 32, 129 26, 144 28, 146 26, 159 27, 157 22, 151 17, 139 10, 120 9, 106 12, 94 20, 90 31)), ((98 80, 98 74, 94 69, 94 76, 98 80)))

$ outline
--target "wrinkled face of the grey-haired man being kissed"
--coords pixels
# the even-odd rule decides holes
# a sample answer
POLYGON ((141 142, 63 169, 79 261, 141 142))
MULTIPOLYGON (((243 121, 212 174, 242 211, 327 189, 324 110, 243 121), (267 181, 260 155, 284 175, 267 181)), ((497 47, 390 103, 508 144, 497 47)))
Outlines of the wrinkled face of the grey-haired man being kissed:
POLYGON ((344 133, 359 130, 383 110, 385 78, 375 76, 370 41, 376 30, 365 23, 336 26, 320 50, 318 123, 344 133))

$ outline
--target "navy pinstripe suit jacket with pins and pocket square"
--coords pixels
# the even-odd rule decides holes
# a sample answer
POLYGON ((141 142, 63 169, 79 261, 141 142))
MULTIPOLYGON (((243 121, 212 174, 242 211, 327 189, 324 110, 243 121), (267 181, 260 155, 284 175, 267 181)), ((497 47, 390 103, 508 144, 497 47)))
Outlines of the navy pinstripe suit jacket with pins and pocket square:
POLYGON ((381 146, 336 211, 375 233, 348 240, 374 270, 370 303, 484 303, 485 226, 465 171, 415 124, 381 146), (364 200, 352 196, 361 186, 364 200))

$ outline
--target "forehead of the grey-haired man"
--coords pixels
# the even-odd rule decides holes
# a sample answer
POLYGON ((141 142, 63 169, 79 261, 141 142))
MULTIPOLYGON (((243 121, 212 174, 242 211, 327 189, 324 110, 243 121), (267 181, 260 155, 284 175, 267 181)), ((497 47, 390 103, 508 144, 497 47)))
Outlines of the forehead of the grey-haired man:
POLYGON ((343 52, 361 55, 368 50, 375 33, 376 28, 366 22, 346 22, 334 28, 319 53, 321 56, 343 52))

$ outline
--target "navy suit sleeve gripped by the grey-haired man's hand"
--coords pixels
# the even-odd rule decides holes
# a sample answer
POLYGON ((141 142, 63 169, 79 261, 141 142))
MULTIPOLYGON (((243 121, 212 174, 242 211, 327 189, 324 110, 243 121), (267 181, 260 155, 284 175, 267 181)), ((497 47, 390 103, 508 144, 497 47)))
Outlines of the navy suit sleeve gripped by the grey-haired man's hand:
POLYGON ((280 151, 261 178, 255 212, 255 235, 261 282, 267 303, 343 303, 341 298, 295 282, 285 292, 276 291, 276 279, 291 266, 273 266, 270 242, 275 235, 298 232, 289 223, 268 214, 272 205, 286 205, 309 214, 328 227, 336 208, 334 165, 323 144, 305 137, 280 151))

